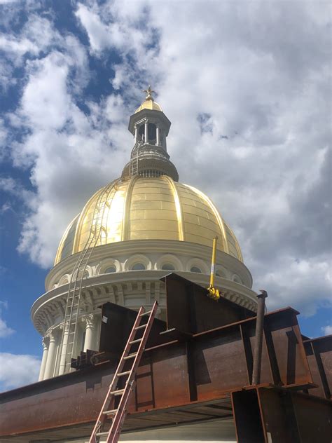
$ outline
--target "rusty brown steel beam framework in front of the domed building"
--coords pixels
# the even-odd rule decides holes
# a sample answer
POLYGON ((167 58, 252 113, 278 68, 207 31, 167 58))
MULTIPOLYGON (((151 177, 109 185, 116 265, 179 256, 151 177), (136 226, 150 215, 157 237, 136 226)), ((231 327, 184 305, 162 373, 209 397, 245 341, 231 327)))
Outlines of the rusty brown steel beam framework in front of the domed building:
MULTIPOLYGON (((164 280, 167 322, 151 329, 124 432, 233 417, 239 443, 331 443, 331 336, 303 337, 292 308, 265 314, 252 386, 256 314, 178 275, 164 280)), ((90 435, 137 313, 107 303, 102 315, 100 348, 76 372, 0 394, 1 442, 90 435)))

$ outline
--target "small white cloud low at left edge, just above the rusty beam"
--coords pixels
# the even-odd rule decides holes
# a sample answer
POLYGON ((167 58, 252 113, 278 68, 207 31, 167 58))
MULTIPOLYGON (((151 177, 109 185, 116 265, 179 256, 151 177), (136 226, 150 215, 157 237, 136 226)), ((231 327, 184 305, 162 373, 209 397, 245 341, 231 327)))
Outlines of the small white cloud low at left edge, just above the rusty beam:
POLYGON ((0 353, 1 390, 18 388, 38 381, 40 360, 34 355, 0 353))

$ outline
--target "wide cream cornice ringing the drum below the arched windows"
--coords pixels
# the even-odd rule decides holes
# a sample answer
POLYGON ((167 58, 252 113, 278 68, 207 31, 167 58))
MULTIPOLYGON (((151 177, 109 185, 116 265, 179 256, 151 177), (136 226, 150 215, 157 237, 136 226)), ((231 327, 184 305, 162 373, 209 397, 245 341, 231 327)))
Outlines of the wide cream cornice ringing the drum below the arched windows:
MULTIPOLYGON (((209 284, 209 275, 184 271, 177 273, 203 287, 209 284)), ((146 270, 101 274, 87 278, 82 290, 82 316, 92 313, 97 306, 106 301, 132 308, 141 304, 148 305, 151 304, 151 295, 155 299, 163 297, 160 307, 165 309, 165 287, 164 283, 160 282, 160 278, 165 275, 167 271, 146 270), (136 289, 133 289, 134 286, 136 289)), ((216 286, 222 289, 225 297, 231 301, 251 309, 255 308, 256 293, 248 287, 220 277, 216 277, 216 286)), ((69 285, 56 287, 34 302, 31 310, 32 321, 41 334, 55 326, 56 321, 57 324, 62 321, 68 289, 69 285)))

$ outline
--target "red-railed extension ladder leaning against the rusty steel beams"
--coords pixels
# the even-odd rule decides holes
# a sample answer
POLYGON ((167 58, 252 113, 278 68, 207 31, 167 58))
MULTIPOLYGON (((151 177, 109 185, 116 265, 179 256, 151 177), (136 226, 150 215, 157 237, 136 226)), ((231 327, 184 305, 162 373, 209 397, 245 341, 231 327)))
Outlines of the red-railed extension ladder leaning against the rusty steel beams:
POLYGON ((116 372, 114 373, 113 380, 109 386, 104 404, 102 405, 102 410, 97 418, 97 423, 95 428, 92 430, 92 435, 90 437, 89 443, 98 443, 101 437, 106 437, 106 443, 117 443, 120 437, 120 432, 123 427, 123 422, 125 421, 125 416, 127 415, 127 404, 130 400, 130 395, 134 390, 135 376, 139 362, 141 361, 141 355, 144 352, 146 341, 148 339, 148 334, 151 331, 153 320, 155 318, 155 313, 158 308, 157 301, 154 302, 151 311, 146 312, 145 308, 141 306, 137 314, 137 318, 132 327, 132 332, 128 338, 127 344, 125 345, 125 350, 120 358, 116 372), (141 325, 141 320, 148 315, 148 321, 141 325), (143 332, 143 334, 141 334, 143 332), (137 334, 141 337, 136 338, 137 334), (138 346, 137 350, 130 353, 132 347, 138 346), (130 362, 133 360, 132 364, 130 362), (125 368, 125 364, 128 366, 125 368), (125 387, 122 389, 118 388, 118 381, 121 377, 127 376, 125 381, 125 387), (116 397, 120 397, 118 401, 118 406, 115 406, 116 397), (110 408, 113 409, 110 409, 110 408), (108 420, 111 420, 111 427, 109 430, 104 430, 107 425, 108 420))

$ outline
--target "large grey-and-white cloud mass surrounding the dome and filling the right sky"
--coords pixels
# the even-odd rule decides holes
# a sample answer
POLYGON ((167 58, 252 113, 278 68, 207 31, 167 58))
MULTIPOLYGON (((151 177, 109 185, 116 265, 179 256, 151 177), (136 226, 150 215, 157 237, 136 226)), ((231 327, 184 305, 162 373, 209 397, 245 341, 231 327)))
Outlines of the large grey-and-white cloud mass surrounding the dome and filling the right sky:
MULTIPOLYGON (((80 2, 90 55, 117 60, 118 93, 89 96, 85 111, 85 48, 46 27, 56 43, 27 63, 10 116, 27 131, 12 146, 15 164, 32 168, 36 187, 20 250, 50 266, 70 219, 120 174, 132 146, 127 118, 151 82, 172 121, 181 181, 211 196, 233 227, 255 289, 268 289, 271 308, 307 315, 330 301, 328 11, 307 2, 80 2)), ((33 46, 34 35, 7 39, 33 46)))

